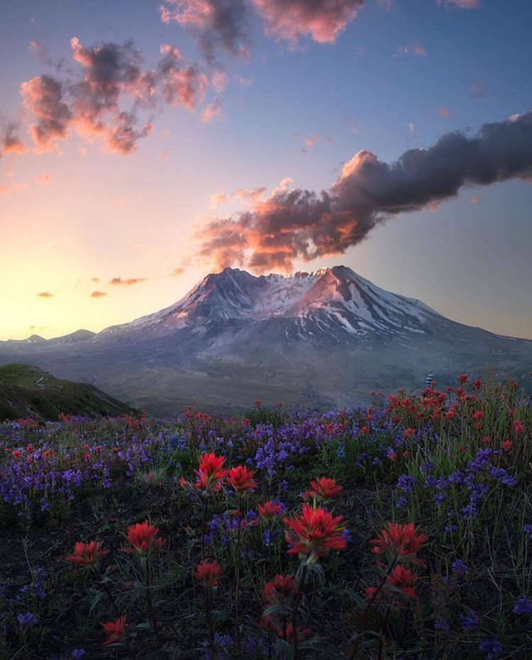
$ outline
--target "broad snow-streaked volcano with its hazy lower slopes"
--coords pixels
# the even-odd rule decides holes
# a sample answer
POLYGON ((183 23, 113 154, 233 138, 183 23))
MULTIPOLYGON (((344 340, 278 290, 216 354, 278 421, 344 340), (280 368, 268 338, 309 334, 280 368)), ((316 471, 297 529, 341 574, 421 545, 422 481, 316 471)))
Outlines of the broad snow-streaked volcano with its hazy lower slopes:
MULTIPOLYGON (((81 333, 81 334, 80 334, 81 333)), ((155 413, 187 403, 241 410, 370 401, 372 390, 440 384, 461 371, 523 375, 532 340, 456 323, 348 267, 290 276, 227 268, 170 307, 77 340, 0 342, 0 364, 31 362, 155 413)))

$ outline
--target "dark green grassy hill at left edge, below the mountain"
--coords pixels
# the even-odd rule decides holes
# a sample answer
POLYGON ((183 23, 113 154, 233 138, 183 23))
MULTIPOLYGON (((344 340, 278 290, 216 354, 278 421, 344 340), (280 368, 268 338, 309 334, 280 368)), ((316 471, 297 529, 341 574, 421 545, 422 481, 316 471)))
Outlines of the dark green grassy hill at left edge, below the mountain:
POLYGON ((65 415, 113 417, 133 408, 92 385, 55 378, 27 364, 0 367, 0 420, 57 420, 65 415))

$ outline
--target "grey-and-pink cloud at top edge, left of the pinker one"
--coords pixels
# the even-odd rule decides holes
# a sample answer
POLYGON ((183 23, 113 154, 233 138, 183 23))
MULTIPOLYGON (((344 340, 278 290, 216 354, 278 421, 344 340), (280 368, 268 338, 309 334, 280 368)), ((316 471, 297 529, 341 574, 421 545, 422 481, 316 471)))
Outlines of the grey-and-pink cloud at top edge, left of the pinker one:
POLYGON ((207 62, 214 64, 216 50, 246 57, 249 52, 248 7, 245 0, 164 0, 161 21, 175 21, 189 28, 207 62))

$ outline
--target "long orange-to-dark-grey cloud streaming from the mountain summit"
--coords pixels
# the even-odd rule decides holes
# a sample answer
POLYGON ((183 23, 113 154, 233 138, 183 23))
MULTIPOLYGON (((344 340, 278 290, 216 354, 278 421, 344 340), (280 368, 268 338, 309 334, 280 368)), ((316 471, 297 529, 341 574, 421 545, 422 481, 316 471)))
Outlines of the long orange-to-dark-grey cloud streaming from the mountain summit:
POLYGON ((530 176, 532 111, 485 123, 473 137, 446 133, 391 164, 360 151, 319 193, 285 181, 250 210, 210 220, 198 234, 199 255, 218 267, 289 271, 294 259, 343 254, 389 218, 434 208, 462 186, 530 176))

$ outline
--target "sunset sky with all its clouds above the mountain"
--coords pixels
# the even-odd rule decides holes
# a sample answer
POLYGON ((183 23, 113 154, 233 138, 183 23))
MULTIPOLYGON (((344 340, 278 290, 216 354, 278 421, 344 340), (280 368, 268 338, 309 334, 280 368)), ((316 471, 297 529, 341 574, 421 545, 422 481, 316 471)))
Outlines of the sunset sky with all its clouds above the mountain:
POLYGON ((529 0, 6 0, 0 340, 345 264, 532 338, 529 0))

